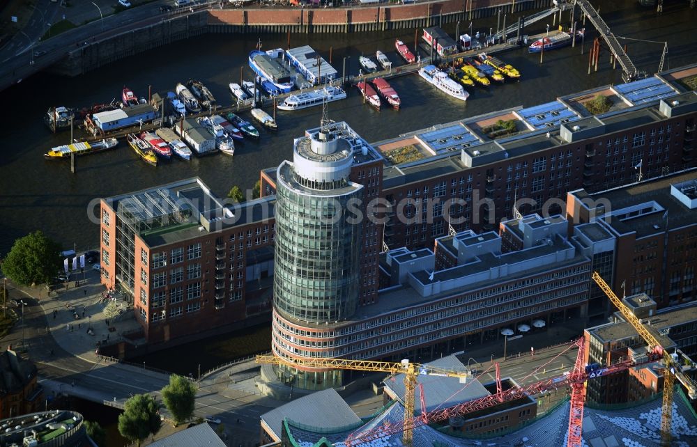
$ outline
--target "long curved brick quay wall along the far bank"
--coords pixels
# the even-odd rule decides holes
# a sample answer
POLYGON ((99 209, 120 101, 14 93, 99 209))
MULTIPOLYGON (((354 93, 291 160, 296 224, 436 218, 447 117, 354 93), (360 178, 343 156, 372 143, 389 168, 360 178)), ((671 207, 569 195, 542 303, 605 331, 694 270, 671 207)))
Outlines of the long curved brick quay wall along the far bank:
POLYGON ((72 49, 50 70, 77 76, 121 58, 205 33, 350 33, 440 26, 496 14, 551 6, 551 0, 443 0, 356 8, 244 8, 199 10, 72 49), (466 7, 470 6, 471 11, 466 7))

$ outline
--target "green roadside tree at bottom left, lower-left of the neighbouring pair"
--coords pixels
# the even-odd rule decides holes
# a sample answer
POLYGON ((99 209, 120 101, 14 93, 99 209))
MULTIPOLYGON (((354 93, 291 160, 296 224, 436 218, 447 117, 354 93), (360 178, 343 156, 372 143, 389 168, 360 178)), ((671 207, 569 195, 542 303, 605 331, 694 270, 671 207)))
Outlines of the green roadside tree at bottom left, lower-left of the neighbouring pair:
POLYGON ((141 441, 160 431, 160 404, 149 394, 137 394, 126 400, 123 413, 118 415, 118 432, 130 441, 141 441))

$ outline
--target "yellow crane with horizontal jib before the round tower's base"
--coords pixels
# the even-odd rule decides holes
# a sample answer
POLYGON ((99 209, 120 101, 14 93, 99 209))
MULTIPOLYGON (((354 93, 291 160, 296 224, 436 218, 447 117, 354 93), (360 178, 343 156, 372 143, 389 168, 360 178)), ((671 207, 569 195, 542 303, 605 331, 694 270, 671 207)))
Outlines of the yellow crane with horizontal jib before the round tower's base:
MULTIPOLYGON (((258 355, 256 363, 271 365, 300 366, 305 368, 332 368, 338 370, 369 371, 372 373, 404 374, 404 445, 411 446, 412 419, 414 416, 414 391, 417 386, 417 375, 433 375, 440 377, 465 378, 470 373, 466 370, 447 370, 434 368, 426 364, 412 363, 408 360, 401 362, 348 360, 348 359, 283 359, 274 355, 258 355)), ((498 372, 498 363, 496 364, 498 372)), ((422 409, 425 411, 425 409, 422 409)))

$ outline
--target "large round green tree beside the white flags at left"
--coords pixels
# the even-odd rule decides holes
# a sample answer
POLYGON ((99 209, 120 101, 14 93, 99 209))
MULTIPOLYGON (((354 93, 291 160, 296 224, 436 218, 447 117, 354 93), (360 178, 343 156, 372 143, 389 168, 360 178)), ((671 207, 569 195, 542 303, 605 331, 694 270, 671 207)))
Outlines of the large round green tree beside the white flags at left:
POLYGON ((58 271, 61 247, 39 230, 15 241, 3 261, 3 272, 17 284, 47 283, 58 271))

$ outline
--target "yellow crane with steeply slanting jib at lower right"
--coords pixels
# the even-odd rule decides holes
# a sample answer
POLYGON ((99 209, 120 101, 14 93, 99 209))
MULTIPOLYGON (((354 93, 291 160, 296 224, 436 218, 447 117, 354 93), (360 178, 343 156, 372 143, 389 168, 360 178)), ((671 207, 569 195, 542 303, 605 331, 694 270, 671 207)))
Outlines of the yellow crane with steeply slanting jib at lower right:
POLYGON ((659 352, 664 359, 666 366, 664 372, 664 385, 663 385, 663 405, 661 406, 661 445, 670 446, 671 445, 671 419, 673 418, 673 389, 675 388, 675 379, 677 378, 680 383, 682 383, 691 399, 697 398, 697 384, 692 382, 692 380, 682 373, 680 365, 678 365, 673 356, 668 353, 661 343, 654 337, 651 332, 644 327, 641 320, 634 315, 634 313, 625 306, 622 301, 615 295, 610 286, 602 279, 602 276, 598 272, 593 272, 593 281, 597 283, 599 288, 605 292, 612 304, 622 313, 627 322, 631 324, 636 332, 643 338, 646 343, 648 343, 651 350, 659 352))

